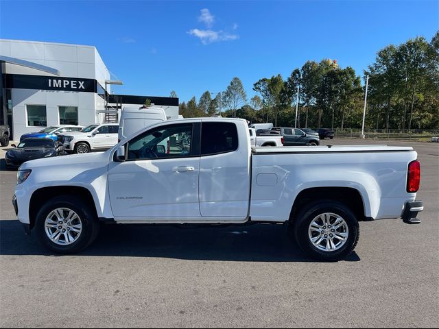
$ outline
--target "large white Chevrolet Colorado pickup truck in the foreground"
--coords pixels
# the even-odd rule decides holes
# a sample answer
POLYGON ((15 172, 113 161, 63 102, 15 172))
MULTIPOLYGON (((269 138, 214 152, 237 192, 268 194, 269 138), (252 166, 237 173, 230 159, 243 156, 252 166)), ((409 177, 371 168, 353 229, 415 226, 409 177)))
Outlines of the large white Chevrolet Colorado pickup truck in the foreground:
POLYGON ((252 148, 241 119, 163 121, 104 153, 25 162, 12 204, 27 233, 64 254, 90 245, 99 221, 287 223, 305 252, 339 260, 359 221, 418 222, 416 158, 412 147, 252 148))

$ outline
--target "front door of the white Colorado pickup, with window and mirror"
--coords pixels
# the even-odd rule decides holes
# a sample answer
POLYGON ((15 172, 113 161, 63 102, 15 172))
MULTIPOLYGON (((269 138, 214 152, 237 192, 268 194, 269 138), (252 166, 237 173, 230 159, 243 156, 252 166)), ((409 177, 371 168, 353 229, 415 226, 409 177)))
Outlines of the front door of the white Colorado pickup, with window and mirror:
POLYGON ((132 138, 126 148, 125 161, 113 159, 108 168, 115 219, 200 219, 200 123, 154 127, 132 138), (176 143, 163 146, 170 139, 176 143))

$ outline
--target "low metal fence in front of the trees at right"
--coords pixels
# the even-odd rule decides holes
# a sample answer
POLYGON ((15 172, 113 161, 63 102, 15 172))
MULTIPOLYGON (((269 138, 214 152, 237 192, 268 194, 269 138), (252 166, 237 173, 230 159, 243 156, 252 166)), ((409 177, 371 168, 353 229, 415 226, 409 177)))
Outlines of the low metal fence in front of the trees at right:
MULTIPOLYGON (((334 136, 338 138, 361 138, 361 129, 335 129, 334 136)), ((439 130, 364 130, 364 136, 368 139, 398 139, 414 141, 430 141, 431 137, 439 136, 439 130)))

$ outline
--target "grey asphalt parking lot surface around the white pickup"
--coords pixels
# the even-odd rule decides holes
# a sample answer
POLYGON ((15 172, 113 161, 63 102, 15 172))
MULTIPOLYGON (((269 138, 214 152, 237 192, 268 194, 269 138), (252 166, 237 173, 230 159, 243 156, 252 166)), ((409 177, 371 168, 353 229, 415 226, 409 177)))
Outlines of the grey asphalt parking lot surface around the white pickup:
POLYGON ((338 263, 309 260, 272 225, 105 226, 81 254, 54 256, 23 234, 16 173, 2 167, 1 328, 438 328, 439 143, 323 143, 414 147, 423 222, 361 222, 355 254, 338 263))

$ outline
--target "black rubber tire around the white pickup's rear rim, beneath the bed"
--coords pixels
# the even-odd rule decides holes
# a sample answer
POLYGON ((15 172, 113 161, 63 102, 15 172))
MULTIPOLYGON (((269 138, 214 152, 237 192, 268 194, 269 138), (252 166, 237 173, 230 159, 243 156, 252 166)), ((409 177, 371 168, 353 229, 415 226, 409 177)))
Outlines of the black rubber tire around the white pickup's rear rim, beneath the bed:
POLYGON ((294 239, 299 247, 312 258, 325 261, 342 260, 349 256, 359 240, 359 224, 352 210, 345 204, 333 200, 311 202, 298 213, 292 226, 294 239), (342 217, 348 227, 348 237, 344 245, 333 252, 324 252, 311 243, 309 227, 313 219, 324 213, 333 213, 342 217))

